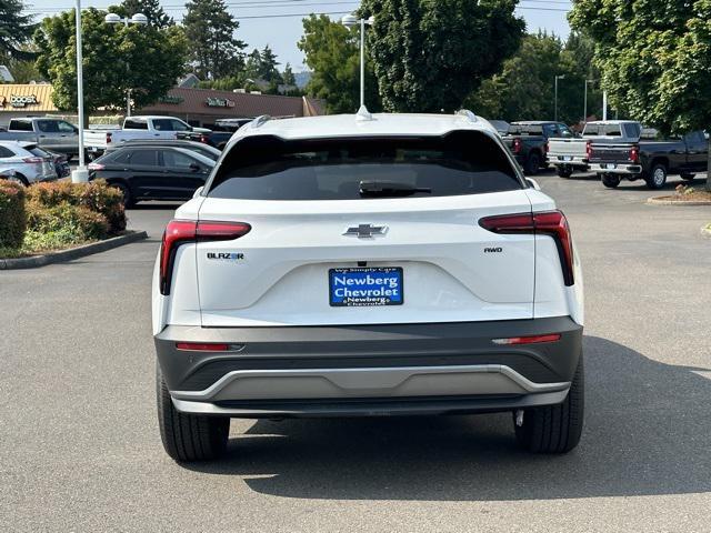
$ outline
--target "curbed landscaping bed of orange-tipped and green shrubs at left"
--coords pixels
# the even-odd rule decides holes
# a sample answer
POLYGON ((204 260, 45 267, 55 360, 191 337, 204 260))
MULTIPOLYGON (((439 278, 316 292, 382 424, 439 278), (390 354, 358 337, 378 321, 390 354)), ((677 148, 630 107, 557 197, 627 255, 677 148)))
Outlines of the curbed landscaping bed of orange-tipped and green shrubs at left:
POLYGON ((106 182, 24 188, 0 180, 0 259, 52 253, 124 233, 121 192, 106 182))

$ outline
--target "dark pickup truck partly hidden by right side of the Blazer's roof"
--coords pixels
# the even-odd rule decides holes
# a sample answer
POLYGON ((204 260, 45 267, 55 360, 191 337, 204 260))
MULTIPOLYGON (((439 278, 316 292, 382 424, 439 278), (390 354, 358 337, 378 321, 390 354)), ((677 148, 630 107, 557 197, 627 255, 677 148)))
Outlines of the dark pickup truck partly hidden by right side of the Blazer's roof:
POLYGON ((512 122, 503 142, 509 147, 523 171, 533 175, 548 167, 545 147, 549 139, 573 139, 575 134, 562 122, 512 122))

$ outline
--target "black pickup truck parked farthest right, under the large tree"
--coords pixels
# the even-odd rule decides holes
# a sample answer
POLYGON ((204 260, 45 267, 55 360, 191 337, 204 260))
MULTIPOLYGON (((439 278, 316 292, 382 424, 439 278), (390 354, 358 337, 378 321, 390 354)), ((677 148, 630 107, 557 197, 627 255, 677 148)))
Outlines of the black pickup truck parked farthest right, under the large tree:
POLYGON ((693 180, 697 172, 708 168, 709 141, 702 131, 693 131, 678 139, 597 144, 590 150, 590 168, 602 184, 615 188, 623 178, 643 179, 650 189, 661 189, 670 173, 693 180))

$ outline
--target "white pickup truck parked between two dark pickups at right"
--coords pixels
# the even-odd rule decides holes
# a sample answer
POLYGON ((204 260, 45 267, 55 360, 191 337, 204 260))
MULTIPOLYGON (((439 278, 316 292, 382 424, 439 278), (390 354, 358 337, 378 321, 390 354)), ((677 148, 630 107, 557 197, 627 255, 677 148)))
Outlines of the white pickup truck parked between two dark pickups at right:
POLYGON ((635 142, 642 125, 632 120, 600 120, 588 122, 582 138, 553 138, 548 141, 548 161, 555 167, 558 175, 570 178, 573 172, 589 170, 591 144, 635 142))

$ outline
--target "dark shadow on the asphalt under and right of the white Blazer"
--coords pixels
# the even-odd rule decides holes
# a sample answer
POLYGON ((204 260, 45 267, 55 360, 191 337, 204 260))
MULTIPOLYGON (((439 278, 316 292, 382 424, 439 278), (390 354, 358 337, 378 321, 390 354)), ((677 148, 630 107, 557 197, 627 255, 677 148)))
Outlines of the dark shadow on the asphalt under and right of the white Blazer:
POLYGON ((329 500, 544 500, 711 491, 711 381, 587 336, 587 420, 564 456, 530 455, 510 414, 258 421, 226 459, 186 465, 254 491, 329 500))

